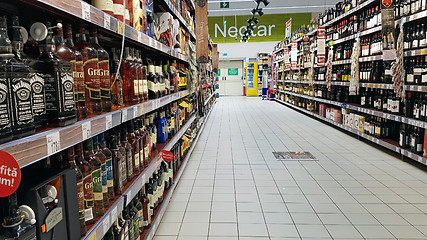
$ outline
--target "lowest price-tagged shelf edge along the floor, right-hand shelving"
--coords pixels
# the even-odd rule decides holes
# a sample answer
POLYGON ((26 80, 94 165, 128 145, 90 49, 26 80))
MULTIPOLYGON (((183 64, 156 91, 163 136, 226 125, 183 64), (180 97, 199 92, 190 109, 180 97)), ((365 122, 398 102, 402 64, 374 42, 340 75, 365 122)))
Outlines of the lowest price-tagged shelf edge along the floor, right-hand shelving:
POLYGON ((297 106, 294 106, 294 105, 292 105, 290 103, 287 103, 287 102, 284 102, 282 100, 279 100, 279 99, 275 99, 275 100, 277 102, 279 102, 279 103, 282 103, 282 104, 286 105, 286 106, 289 106, 289 107, 292 107, 292 108, 294 108, 296 110, 304 112, 304 113, 306 113, 306 114, 308 114, 310 116, 316 117, 316 118, 318 118, 318 119, 320 119, 322 121, 328 122, 328 123, 330 123, 330 124, 332 124, 332 125, 334 125, 334 126, 336 126, 338 128, 341 128, 343 130, 346 130, 348 132, 356 134, 359 137, 362 137, 362 138, 364 138, 366 140, 369 140, 369 141, 371 141, 373 143, 376 143, 376 144, 378 144, 378 145, 380 145, 382 147, 385 147, 385 148, 387 148, 387 149, 389 149, 391 151, 397 152, 397 153, 399 153, 399 154, 401 154, 403 156, 406 156, 406 157, 411 158, 411 159, 413 159, 413 160, 415 160, 417 162, 420 162, 420 163, 422 163, 424 165, 427 165, 427 158, 424 158, 423 156, 420 156, 418 154, 414 154, 412 152, 409 152, 408 150, 403 149, 403 148, 401 148, 399 146, 396 146, 395 144, 392 144, 390 142, 384 141, 384 140, 376 138, 376 137, 372 137, 370 135, 367 135, 365 133, 362 133, 362 132, 358 131, 355 128, 350 128, 348 126, 345 126, 343 124, 337 123, 335 121, 332 121, 331 119, 327 119, 327 118, 322 117, 322 116, 320 116, 320 115, 318 115, 316 113, 310 112, 310 111, 308 111, 306 109, 303 109, 303 108, 299 108, 297 106))

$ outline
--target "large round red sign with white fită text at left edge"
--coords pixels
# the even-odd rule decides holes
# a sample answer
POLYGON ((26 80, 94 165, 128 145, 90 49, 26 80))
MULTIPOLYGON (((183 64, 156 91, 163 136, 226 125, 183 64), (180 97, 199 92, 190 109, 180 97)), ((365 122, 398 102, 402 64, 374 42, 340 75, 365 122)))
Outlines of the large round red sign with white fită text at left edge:
POLYGON ((0 151, 0 197, 14 193, 21 182, 21 169, 15 158, 7 152, 0 151))

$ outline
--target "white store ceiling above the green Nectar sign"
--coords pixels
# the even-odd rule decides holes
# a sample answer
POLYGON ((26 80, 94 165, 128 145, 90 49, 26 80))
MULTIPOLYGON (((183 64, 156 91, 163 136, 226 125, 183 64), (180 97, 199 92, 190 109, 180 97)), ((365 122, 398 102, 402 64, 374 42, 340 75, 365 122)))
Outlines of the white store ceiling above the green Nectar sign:
MULTIPOLYGON (((270 0, 267 7, 261 6, 265 14, 319 13, 336 3, 337 0, 270 0)), ((209 16, 248 15, 255 6, 253 0, 208 0, 209 16), (230 8, 220 8, 220 2, 229 2, 230 8)))

